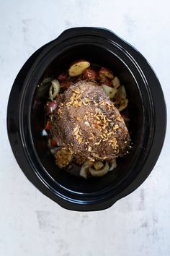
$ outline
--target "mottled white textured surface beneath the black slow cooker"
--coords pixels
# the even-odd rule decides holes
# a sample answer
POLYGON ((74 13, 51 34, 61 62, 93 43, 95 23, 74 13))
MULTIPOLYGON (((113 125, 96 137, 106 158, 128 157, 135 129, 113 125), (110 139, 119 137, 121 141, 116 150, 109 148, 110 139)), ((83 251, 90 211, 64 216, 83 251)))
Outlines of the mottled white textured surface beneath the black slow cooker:
POLYGON ((115 31, 146 56, 170 101, 170 5, 162 1, 0 0, 0 255, 169 256, 170 135, 153 172, 101 212, 64 210, 17 165, 6 135, 6 103, 19 69, 68 27, 115 31))

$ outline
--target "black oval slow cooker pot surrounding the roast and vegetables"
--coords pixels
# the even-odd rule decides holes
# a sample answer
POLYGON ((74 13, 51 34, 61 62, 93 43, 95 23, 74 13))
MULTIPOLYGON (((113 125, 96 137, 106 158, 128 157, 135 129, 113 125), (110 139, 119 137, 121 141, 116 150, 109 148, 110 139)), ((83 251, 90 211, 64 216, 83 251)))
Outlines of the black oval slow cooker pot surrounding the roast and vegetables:
POLYGON ((146 59, 109 30, 76 27, 42 46, 19 71, 7 109, 9 141, 19 166, 44 195, 69 210, 109 208, 140 186, 151 173, 164 142, 166 105, 161 85, 146 59), (48 150, 44 129, 45 74, 60 74, 76 59, 114 69, 125 83, 133 148, 115 171, 85 180, 62 171, 48 150))

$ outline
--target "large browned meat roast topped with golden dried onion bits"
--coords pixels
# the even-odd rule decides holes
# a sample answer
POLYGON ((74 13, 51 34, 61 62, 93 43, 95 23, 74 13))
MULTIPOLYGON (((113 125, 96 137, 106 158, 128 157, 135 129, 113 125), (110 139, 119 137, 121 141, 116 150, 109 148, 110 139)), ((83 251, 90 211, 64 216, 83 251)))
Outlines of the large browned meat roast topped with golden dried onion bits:
POLYGON ((127 153, 130 142, 114 103, 102 87, 86 80, 71 85, 61 95, 51 134, 77 163, 112 160, 127 153))

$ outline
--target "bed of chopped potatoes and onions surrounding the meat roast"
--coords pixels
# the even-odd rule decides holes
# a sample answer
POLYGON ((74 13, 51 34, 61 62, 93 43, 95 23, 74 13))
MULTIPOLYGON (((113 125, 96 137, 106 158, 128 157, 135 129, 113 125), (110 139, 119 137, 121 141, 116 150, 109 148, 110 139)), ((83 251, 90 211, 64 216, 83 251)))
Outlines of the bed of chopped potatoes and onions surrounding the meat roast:
MULTIPOLYGON (((61 72, 61 74, 57 76, 57 79, 51 77, 45 78, 45 80, 42 81, 41 86, 48 85, 49 88, 50 85, 50 101, 48 101, 45 106, 45 113, 46 116, 48 116, 45 129, 48 132, 48 148, 51 152, 53 151, 55 163, 59 168, 64 168, 66 166, 68 168, 68 164, 71 162, 73 163, 74 158, 69 150, 60 148, 58 142, 53 140, 53 137, 50 134, 51 121, 55 109, 58 108, 58 94, 63 92, 63 90, 67 90, 71 85, 80 80, 89 80, 102 86, 104 92, 113 101, 119 111, 124 110, 128 106, 125 86, 121 85, 119 78, 115 77, 113 72, 106 67, 92 69, 89 61, 84 59, 74 61, 66 72, 61 72)), ((125 122, 130 120, 127 111, 123 111, 123 114, 121 113, 121 115, 125 122)), ((81 166, 80 176, 85 179, 89 178, 89 176, 104 176, 108 171, 112 171, 116 168, 116 166, 116 159, 113 159, 112 161, 85 161, 81 166)))

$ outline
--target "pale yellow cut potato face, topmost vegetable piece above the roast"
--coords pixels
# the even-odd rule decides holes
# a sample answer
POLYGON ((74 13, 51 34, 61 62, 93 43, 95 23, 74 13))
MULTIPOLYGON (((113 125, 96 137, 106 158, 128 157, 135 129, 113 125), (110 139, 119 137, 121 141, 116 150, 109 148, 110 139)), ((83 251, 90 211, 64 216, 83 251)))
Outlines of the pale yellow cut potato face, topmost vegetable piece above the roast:
POLYGON ((71 67, 68 69, 68 74, 71 77, 77 77, 79 74, 82 74, 85 69, 90 67, 89 61, 85 60, 79 60, 75 61, 73 64, 71 64, 71 67))

